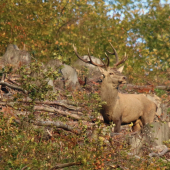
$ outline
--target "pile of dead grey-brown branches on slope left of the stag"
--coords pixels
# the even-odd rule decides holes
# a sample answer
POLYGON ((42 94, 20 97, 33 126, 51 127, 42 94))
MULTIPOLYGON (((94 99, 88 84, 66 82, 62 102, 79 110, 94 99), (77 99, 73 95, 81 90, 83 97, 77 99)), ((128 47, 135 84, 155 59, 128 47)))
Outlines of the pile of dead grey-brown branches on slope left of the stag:
POLYGON ((27 97, 28 92, 19 86, 17 79, 11 76, 10 78, 6 77, 4 80, 0 81, 0 85, 3 87, 1 87, 0 91, 0 107, 4 115, 8 114, 10 116, 13 116, 15 117, 15 121, 20 123, 20 115, 24 116, 24 121, 28 122, 28 116, 30 114, 34 114, 36 120, 29 121, 34 125, 61 128, 67 131, 71 131, 75 134, 81 133, 81 130, 78 129, 78 120, 85 121, 87 124, 89 124, 89 118, 85 117, 82 113, 84 109, 82 107, 78 107, 75 102, 67 100, 67 98, 65 98, 65 100, 61 99, 61 96, 59 97, 60 99, 56 101, 36 100, 34 102, 32 112, 28 111, 26 108, 28 108, 28 106, 32 103, 32 100, 27 97), (17 93, 22 93, 26 97, 21 100, 14 100, 17 93), (39 116, 40 114, 45 113, 48 113, 48 115, 50 115, 50 118, 48 120, 43 120, 39 116), (66 123, 63 123, 62 121, 51 120, 61 117, 65 117, 65 119, 70 123, 67 124, 67 121, 66 123), (77 122, 76 125, 75 121, 77 122))

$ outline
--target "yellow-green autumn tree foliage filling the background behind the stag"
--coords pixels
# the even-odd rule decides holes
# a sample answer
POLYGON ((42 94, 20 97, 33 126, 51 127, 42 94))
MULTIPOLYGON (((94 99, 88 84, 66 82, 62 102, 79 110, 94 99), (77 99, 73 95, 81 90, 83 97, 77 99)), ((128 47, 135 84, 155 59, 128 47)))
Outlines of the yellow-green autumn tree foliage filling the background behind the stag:
POLYGON ((81 55, 90 48, 92 55, 104 57, 110 41, 120 56, 128 54, 125 72, 131 82, 138 78, 144 84, 147 80, 158 83, 160 76, 167 80, 167 1, 2 0, 0 8, 0 55, 9 43, 20 48, 26 44, 43 61, 57 57, 69 63, 76 59, 72 44, 81 55))

